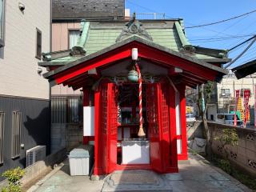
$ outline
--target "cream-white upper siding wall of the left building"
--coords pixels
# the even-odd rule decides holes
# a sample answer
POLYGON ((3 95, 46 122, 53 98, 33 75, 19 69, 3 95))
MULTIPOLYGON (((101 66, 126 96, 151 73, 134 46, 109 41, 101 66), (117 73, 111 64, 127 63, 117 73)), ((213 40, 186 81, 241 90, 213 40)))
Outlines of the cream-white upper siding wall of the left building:
POLYGON ((42 31, 42 52, 50 51, 50 0, 6 0, 5 27, 0 94, 48 99, 49 83, 38 74, 35 55, 36 28, 42 31), (24 13, 18 9, 18 2, 26 6, 24 13))

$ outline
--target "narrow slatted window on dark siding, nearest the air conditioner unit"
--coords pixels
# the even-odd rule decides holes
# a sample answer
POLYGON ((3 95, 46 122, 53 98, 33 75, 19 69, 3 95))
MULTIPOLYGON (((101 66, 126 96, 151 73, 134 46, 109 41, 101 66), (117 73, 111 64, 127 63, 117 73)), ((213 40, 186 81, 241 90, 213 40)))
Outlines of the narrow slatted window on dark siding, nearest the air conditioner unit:
POLYGON ((13 111, 12 117, 12 146, 11 158, 18 158, 20 155, 21 146, 21 126, 22 126, 22 113, 20 111, 13 111))

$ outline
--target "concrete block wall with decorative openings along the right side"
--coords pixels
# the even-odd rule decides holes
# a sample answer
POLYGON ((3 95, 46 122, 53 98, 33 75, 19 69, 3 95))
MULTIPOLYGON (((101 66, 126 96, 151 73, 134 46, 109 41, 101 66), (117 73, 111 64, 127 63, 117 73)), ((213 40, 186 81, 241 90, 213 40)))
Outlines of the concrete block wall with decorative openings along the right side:
MULTIPOLYGON (((212 138, 222 134, 223 129, 236 129, 238 133, 238 146, 229 146, 230 161, 248 174, 256 177, 256 129, 239 128, 236 126, 222 125, 208 122, 212 138)), ((213 139, 214 154, 223 156, 224 150, 220 142, 213 139)))

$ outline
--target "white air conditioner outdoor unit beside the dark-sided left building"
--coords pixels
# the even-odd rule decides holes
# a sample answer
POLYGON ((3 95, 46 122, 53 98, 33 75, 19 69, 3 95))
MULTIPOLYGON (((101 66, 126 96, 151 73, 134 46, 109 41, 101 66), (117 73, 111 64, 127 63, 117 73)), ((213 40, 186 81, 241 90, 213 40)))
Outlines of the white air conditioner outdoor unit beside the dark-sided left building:
POLYGON ((35 146, 26 150, 26 166, 32 166, 35 162, 46 158, 46 146, 35 146))

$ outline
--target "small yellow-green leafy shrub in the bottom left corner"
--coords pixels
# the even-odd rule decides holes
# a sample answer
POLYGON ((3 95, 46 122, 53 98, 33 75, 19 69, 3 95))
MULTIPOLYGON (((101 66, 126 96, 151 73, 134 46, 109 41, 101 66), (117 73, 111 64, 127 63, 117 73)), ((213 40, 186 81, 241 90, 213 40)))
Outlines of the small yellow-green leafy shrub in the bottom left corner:
POLYGON ((2 189, 2 192, 21 192, 22 191, 22 183, 20 180, 25 174, 25 170, 22 170, 19 166, 15 169, 6 170, 2 177, 7 178, 8 186, 2 189))

